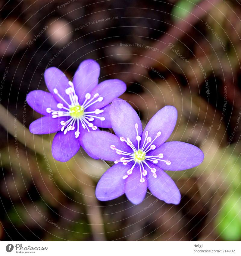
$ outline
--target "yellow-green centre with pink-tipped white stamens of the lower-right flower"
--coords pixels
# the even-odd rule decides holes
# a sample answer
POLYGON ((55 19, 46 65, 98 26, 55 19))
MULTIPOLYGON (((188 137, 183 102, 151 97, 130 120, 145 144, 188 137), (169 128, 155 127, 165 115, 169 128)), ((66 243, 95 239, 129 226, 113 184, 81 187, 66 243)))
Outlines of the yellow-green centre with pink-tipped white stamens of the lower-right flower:
POLYGON ((126 179, 128 178, 129 175, 131 175, 136 163, 139 164, 139 168, 140 168, 140 182, 143 183, 145 182, 145 179, 143 177, 145 177, 147 175, 147 170, 149 169, 152 172, 152 175, 154 178, 157 177, 156 174, 156 168, 154 167, 150 167, 149 164, 151 162, 151 164, 157 164, 158 161, 162 161, 165 162, 167 165, 170 165, 171 162, 169 160, 163 160, 162 158, 164 157, 162 153, 157 153, 158 155, 146 155, 149 151, 154 150, 156 148, 156 145, 153 144, 153 142, 156 140, 156 138, 161 136, 161 131, 158 131, 158 133, 156 134, 156 137, 154 139, 152 139, 150 136, 148 136, 148 131, 145 132, 145 139, 142 145, 142 148, 140 148, 140 141, 141 141, 141 137, 138 134, 138 125, 135 124, 135 129, 136 129, 136 140, 138 141, 138 148, 136 148, 134 146, 134 144, 132 143, 132 141, 130 141, 130 138, 124 138, 124 137, 120 137, 120 140, 123 142, 126 142, 126 144, 133 150, 133 153, 131 152, 125 152, 122 151, 118 148, 115 147, 115 145, 111 145, 111 149, 112 150, 116 150, 116 153, 118 155, 122 155, 122 157, 120 158, 120 160, 115 160, 114 163, 118 164, 119 162, 121 162, 122 164, 126 165, 130 162, 134 162, 132 167, 127 171, 127 174, 124 175, 122 178, 126 179), (146 170, 147 169, 147 170, 146 170))

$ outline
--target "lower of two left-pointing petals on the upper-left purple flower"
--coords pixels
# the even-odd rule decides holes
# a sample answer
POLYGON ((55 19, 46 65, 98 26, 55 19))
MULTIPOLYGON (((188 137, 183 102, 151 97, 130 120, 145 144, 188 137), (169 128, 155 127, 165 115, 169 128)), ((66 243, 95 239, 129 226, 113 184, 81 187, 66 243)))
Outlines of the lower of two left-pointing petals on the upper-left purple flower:
POLYGON ((60 131, 61 121, 66 121, 67 117, 52 118, 52 115, 43 116, 29 125, 29 131, 33 134, 49 134, 60 131))

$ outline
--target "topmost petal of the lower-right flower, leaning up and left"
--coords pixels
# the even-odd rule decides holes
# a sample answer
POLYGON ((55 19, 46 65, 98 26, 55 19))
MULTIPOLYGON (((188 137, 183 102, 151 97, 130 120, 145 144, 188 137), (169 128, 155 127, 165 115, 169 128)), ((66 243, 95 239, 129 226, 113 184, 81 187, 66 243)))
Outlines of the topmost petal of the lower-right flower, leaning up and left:
POLYGON ((138 125, 138 134, 142 136, 142 124, 132 106, 123 99, 114 99, 110 108, 111 125, 118 137, 130 138, 137 146, 135 124, 138 125))

